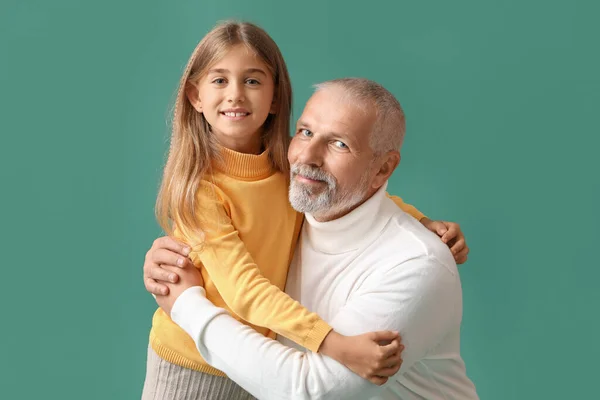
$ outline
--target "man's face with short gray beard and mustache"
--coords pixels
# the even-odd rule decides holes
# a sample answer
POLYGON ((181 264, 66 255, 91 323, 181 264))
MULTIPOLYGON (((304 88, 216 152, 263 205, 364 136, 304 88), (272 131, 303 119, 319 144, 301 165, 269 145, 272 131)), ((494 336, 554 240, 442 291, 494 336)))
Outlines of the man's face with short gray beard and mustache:
POLYGON ((308 100, 288 151, 290 203, 296 210, 329 221, 370 197, 375 118, 374 107, 344 100, 336 88, 308 100))

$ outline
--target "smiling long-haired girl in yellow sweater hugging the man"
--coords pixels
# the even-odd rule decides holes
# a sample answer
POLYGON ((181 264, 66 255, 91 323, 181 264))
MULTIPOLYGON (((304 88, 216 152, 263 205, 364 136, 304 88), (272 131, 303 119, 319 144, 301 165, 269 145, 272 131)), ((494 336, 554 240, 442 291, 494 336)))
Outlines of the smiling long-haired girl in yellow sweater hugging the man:
MULTIPOLYGON (((395 333, 376 336, 387 346, 374 336, 344 337, 282 291, 303 218, 287 198, 291 102, 286 65, 265 31, 227 22, 208 33, 180 81, 157 217, 191 246, 215 305, 264 335, 283 335, 374 378, 384 371, 369 374, 373 363, 401 362, 395 333)), ((160 308, 147 368, 143 399, 251 398, 208 365, 160 308)))

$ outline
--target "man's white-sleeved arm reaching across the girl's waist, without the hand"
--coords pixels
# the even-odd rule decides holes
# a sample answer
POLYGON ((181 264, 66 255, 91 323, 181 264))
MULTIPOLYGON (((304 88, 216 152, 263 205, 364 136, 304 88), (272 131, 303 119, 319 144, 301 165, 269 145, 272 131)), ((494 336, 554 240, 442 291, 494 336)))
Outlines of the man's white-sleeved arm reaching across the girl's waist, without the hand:
MULTIPOLYGON (((203 296, 186 290, 171 318, 196 342, 204 359, 261 399, 364 399, 376 386, 331 358, 304 353, 265 338, 233 319, 203 296)), ((460 283, 432 258, 415 259, 372 274, 333 318, 346 335, 374 329, 397 330, 406 349, 402 371, 434 347, 459 312, 460 283)))

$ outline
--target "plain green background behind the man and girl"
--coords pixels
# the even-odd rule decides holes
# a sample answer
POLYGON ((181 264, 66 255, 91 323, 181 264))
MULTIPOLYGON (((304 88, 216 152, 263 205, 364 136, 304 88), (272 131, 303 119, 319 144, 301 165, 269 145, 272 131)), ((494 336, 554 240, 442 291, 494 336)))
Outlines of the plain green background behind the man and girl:
POLYGON ((598 398, 598 2, 0 4, 1 398, 139 398, 169 110, 231 17, 281 47, 295 117, 335 77, 403 104, 390 191, 467 235, 462 354, 481 398, 598 398))

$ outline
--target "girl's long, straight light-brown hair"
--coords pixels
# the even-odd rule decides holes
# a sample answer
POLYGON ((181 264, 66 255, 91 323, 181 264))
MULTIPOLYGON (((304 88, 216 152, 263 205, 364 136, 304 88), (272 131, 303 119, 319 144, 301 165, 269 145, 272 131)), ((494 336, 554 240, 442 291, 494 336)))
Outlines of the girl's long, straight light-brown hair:
MULTIPOLYGON (((215 62, 235 45, 254 51, 269 67, 275 82, 276 110, 264 124, 263 144, 273 167, 289 174, 287 148, 290 133, 292 88, 283 56, 273 39, 248 22, 218 24, 198 43, 192 53, 175 100, 171 146, 156 201, 156 218, 169 235, 174 228, 202 236, 195 217, 200 181, 211 174, 211 161, 219 156, 216 141, 204 114, 194 109, 186 96, 186 85, 197 82, 215 62)), ((191 244, 191 243, 190 243, 191 244)))

